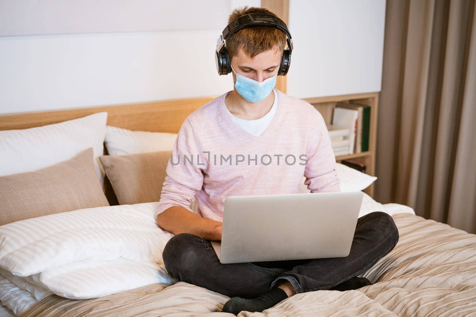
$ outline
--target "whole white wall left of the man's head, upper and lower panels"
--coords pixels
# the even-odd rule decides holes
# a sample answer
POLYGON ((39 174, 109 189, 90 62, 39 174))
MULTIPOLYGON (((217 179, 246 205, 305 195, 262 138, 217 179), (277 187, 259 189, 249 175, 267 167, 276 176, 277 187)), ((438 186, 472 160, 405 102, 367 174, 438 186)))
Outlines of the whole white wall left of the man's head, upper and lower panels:
POLYGON ((233 8, 260 1, 163 3, 0 0, 0 114, 233 89, 231 76, 216 71, 217 38, 233 8))

